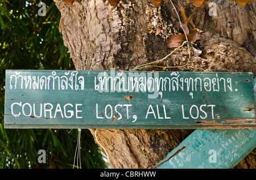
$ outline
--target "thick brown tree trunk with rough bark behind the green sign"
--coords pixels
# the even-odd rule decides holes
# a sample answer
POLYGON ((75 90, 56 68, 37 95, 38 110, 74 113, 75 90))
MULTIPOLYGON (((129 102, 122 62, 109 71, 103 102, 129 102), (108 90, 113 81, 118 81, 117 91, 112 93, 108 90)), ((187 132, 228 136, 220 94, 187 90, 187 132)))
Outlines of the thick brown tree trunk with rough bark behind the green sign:
MULTIPOLYGON (((168 38, 176 35, 178 21, 170 1, 155 7, 151 1, 123 0, 117 6, 108 1, 82 0, 67 6, 54 0, 61 12, 60 31, 77 70, 131 70, 135 66, 162 59, 173 49, 168 38)), ((218 1, 217 16, 209 16, 208 4, 195 7, 187 1, 172 1, 192 15, 196 27, 204 31, 197 42, 202 50, 187 66, 144 68, 144 71, 232 71, 256 74, 255 1, 243 8, 218 1), (203 20, 204 19, 204 20, 203 20)), ((181 16, 180 16, 181 18, 181 16)), ((158 66, 180 66, 188 61, 183 47, 158 66)), ((95 138, 95 129, 90 129, 95 138)), ((193 130, 98 129, 97 140, 109 156, 112 168, 154 168, 193 130)), ((256 168, 255 151, 236 168, 256 168), (254 163, 253 163, 254 162, 254 163)))

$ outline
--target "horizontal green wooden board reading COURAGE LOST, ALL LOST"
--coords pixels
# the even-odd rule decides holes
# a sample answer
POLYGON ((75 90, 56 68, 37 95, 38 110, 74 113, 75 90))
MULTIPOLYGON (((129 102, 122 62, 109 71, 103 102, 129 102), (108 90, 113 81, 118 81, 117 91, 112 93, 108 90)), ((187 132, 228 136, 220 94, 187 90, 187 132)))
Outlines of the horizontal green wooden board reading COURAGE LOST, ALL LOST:
POLYGON ((7 70, 5 91, 5 128, 255 128, 251 73, 7 70))

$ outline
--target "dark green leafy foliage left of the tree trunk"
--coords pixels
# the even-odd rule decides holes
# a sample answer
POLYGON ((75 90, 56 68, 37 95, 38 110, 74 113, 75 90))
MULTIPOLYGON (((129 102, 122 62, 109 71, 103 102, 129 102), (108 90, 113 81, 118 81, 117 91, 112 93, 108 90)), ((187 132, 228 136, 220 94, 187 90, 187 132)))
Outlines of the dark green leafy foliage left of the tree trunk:
MULTIPOLYGON (((59 32, 59 10, 47 0, 46 16, 39 16, 38 3, 0 0, 0 169, 73 168, 77 130, 3 127, 5 70, 75 69, 59 32), (38 162, 39 149, 46 164, 38 162)), ((106 168, 89 130, 82 130, 80 144, 82 168, 106 168)))

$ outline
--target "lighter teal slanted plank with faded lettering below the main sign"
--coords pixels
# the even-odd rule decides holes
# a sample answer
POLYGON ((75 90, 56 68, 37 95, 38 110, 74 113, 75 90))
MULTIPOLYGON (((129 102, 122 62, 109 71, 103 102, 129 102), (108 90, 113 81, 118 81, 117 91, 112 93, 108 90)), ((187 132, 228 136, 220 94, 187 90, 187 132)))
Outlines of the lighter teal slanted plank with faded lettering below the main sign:
MULTIPOLYGON (((256 92, 256 79, 254 91, 256 92)), ((232 168, 255 147, 256 130, 195 130, 156 167, 232 168)))

